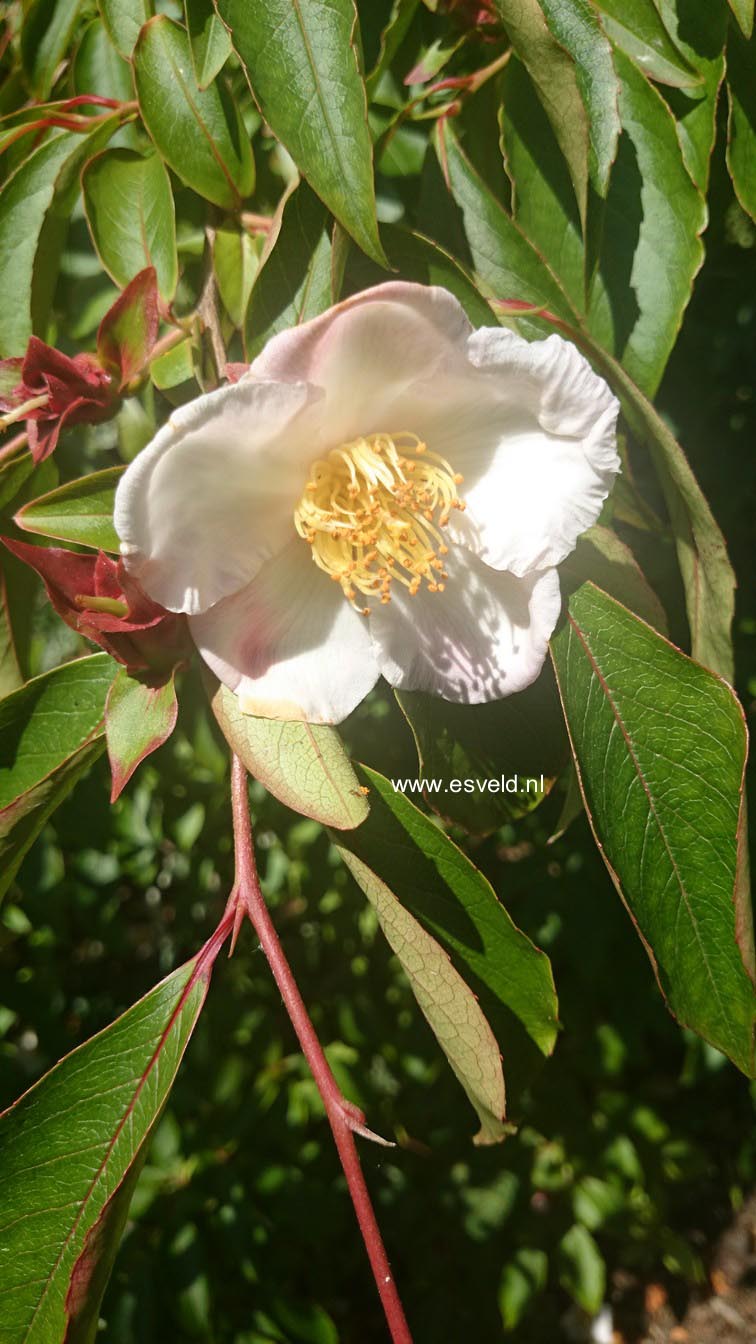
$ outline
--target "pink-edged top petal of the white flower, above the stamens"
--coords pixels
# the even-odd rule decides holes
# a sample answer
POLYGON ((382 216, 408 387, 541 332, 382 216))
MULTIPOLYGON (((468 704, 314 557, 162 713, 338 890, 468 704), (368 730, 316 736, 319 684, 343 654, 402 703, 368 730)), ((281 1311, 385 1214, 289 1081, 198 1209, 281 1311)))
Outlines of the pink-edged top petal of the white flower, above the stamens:
POLYGON ((250 376, 323 387, 327 448, 377 430, 413 382, 464 360, 471 325, 445 289, 391 281, 352 294, 301 327, 280 332, 250 366, 250 376))

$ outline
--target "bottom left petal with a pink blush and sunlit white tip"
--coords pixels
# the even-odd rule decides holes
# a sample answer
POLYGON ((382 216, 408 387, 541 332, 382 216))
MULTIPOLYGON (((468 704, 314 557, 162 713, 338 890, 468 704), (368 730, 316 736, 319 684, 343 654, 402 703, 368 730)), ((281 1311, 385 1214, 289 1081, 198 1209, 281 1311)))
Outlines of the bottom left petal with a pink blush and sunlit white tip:
POLYGON ((246 714, 340 723, 378 680, 367 618, 299 538, 190 628, 246 714))

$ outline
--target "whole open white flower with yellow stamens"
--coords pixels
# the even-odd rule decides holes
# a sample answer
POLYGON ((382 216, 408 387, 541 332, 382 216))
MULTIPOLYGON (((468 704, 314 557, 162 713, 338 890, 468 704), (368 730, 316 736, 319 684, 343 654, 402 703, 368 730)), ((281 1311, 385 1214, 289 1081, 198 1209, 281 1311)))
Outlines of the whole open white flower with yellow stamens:
POLYGON ((118 487, 121 551, 246 712, 339 723, 379 676, 499 699, 538 676, 616 414, 558 336, 379 285, 171 415, 118 487))

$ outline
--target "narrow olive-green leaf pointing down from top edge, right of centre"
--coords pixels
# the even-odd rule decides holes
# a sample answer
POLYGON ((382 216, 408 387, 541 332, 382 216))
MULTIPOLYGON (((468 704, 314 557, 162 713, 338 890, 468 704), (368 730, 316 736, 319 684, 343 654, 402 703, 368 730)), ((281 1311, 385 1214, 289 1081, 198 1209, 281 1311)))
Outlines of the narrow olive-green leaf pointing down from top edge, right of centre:
MULTIPOLYGON (((576 63, 552 31, 538 0, 495 3, 513 48, 533 79, 554 128, 569 167, 580 218, 585 222, 591 160, 593 185, 599 195, 605 191, 605 180, 596 173, 595 145, 591 144, 591 125, 576 63)), ((560 11, 557 0, 553 0, 553 8, 554 12, 560 11)), ((562 13, 566 15, 566 7, 562 7, 562 13)))

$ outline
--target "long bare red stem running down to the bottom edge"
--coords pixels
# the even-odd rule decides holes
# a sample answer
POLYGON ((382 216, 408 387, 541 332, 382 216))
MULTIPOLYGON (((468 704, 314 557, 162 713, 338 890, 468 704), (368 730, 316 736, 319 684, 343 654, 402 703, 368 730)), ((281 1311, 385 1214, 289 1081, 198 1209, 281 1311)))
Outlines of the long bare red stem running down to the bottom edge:
POLYGON ((354 1141, 355 1132, 369 1137, 375 1136, 371 1136, 370 1130, 365 1129, 362 1111, 342 1095, 268 913, 254 863, 246 770, 235 755, 231 758, 231 810, 237 864, 233 892, 233 899, 235 900, 234 939, 245 913, 249 914, 254 931, 260 938, 260 946, 268 958, 273 978, 281 992, 281 999, 297 1034, 303 1054, 312 1070, 317 1091, 323 1098, 393 1344, 412 1344, 412 1335, 409 1333, 397 1285, 389 1266, 381 1230, 373 1211, 373 1204, 370 1203, 370 1195, 365 1184, 354 1141))

